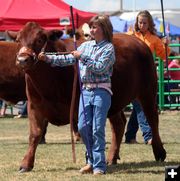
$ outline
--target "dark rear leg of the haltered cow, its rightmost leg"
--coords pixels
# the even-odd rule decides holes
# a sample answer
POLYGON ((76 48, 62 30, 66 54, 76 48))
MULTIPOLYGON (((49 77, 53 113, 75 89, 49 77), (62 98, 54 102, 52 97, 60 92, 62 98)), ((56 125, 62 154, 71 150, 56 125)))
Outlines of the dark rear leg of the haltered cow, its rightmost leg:
POLYGON ((144 113, 147 117, 147 121, 152 129, 152 148, 156 161, 164 161, 166 158, 166 151, 163 147, 160 135, 159 135, 159 116, 157 103, 154 97, 148 96, 141 98, 141 105, 144 113))

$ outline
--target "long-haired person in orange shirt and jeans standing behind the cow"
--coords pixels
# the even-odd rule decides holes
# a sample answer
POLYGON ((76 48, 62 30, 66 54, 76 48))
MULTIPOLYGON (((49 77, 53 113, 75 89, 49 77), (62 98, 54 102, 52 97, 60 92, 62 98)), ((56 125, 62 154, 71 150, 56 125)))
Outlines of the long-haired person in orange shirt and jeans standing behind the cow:
MULTIPOLYGON (((145 42, 150 48, 151 52, 160 57, 162 60, 166 59, 166 47, 168 39, 162 40, 156 35, 155 24, 151 14, 147 11, 140 11, 136 17, 134 30, 129 31, 127 34, 134 35, 145 42)), ((170 49, 167 48, 169 54, 170 49)), ((133 111, 130 116, 127 131, 125 133, 125 143, 137 143, 136 133, 140 127, 144 142, 152 144, 152 131, 146 119, 146 116, 141 108, 141 105, 136 100, 132 102, 133 111)))

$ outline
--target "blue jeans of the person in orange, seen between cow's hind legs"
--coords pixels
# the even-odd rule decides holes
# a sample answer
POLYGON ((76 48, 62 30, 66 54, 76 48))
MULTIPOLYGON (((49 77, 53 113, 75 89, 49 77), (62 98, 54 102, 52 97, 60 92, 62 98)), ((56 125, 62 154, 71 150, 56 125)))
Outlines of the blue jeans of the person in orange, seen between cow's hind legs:
POLYGON ((130 116, 127 131, 125 133, 125 142, 130 142, 132 139, 136 139, 136 133, 138 131, 138 125, 143 133, 144 142, 152 139, 152 130, 147 122, 146 116, 141 108, 141 105, 137 101, 132 102, 133 111, 130 116))

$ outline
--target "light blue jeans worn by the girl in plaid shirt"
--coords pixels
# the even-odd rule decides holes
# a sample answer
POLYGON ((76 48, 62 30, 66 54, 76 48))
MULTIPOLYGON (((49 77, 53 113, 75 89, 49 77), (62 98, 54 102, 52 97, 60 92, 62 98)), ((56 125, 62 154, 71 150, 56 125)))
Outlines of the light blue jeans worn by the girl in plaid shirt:
POLYGON ((92 166, 93 171, 104 173, 106 172, 105 126, 110 105, 111 94, 105 89, 83 89, 79 103, 78 130, 86 145, 87 163, 92 166))

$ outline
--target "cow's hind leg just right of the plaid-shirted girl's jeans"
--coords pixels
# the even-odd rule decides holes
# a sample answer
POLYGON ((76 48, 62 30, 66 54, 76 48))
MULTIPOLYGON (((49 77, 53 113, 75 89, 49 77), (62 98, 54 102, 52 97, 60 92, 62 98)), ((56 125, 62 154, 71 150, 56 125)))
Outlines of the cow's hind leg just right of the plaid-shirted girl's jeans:
POLYGON ((117 160, 120 159, 119 150, 124 135, 126 117, 123 111, 120 111, 116 115, 111 116, 109 118, 109 121, 112 132, 112 140, 111 140, 110 150, 107 156, 107 163, 111 165, 111 164, 117 164, 117 160))

